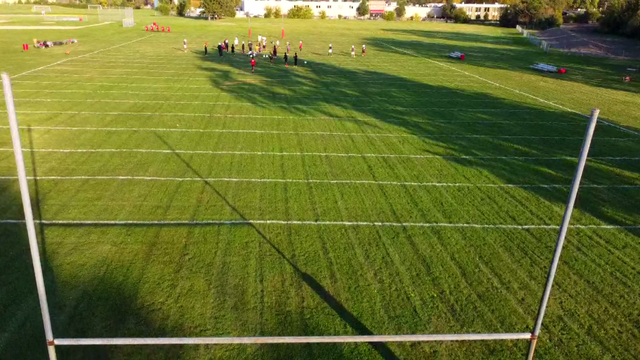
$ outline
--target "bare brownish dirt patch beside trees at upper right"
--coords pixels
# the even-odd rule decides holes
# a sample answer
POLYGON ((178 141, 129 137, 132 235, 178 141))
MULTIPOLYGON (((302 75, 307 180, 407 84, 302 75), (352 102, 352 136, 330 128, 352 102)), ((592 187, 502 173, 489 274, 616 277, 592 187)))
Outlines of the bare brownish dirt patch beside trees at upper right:
POLYGON ((595 32, 596 25, 563 25, 536 35, 552 47, 572 53, 640 59, 640 42, 595 32))

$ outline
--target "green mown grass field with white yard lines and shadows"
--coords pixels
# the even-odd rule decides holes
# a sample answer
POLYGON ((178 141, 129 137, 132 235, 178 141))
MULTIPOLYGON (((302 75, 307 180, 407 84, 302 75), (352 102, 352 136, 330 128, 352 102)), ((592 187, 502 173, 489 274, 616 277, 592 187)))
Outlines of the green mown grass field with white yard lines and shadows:
MULTIPOLYGON (((633 62, 546 55, 511 29, 289 20, 292 50, 304 40, 301 66, 258 58, 251 74, 245 56, 215 53, 224 38, 247 40, 246 20, 149 15, 137 12, 131 29, 0 31, 33 206, 47 222, 38 235, 57 337, 529 332, 586 128, 581 114, 599 107, 623 128, 596 130, 537 354, 640 353, 640 88, 620 81, 633 62), (159 19, 172 33, 140 29, 159 19), (19 50, 45 37, 79 43, 19 50), (362 44, 367 56, 351 58, 351 45, 362 44), (467 60, 447 58, 454 50, 467 60), (537 61, 568 73, 529 70, 537 61)), ((281 24, 256 19, 252 30, 254 41, 271 42, 281 24)), ((23 218, 10 148, 5 120, 0 359, 40 359, 26 231, 6 221, 23 218)), ((519 359, 527 346, 59 347, 58 355, 519 359)))

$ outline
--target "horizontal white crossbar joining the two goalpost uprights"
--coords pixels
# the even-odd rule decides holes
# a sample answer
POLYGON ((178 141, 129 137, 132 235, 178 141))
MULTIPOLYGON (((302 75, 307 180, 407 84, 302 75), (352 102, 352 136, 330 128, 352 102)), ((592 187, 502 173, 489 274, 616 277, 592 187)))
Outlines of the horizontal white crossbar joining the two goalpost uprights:
POLYGON ((353 336, 258 336, 196 338, 77 338, 56 339, 56 345, 178 345, 178 344, 309 344, 418 341, 531 340, 530 333, 417 334, 353 336))

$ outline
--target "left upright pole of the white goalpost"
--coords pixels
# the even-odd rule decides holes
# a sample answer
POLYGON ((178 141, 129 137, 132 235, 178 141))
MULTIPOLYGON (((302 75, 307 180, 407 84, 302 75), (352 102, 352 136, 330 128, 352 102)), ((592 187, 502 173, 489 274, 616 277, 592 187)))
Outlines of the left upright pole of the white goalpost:
POLYGON ((13 91, 9 74, 2 73, 2 87, 4 88, 4 99, 7 104, 9 114, 9 127, 11 128, 11 140, 13 141, 13 153, 16 158, 18 168, 18 182, 20 183, 20 195, 22 196, 22 207, 24 208, 24 219, 27 225, 27 235, 29 236, 29 249, 31 250, 31 262, 33 272, 36 276, 36 288, 38 289, 38 300, 40 301, 40 312, 42 313, 42 323, 44 324, 44 334, 47 338, 47 350, 49 360, 56 360, 55 344, 53 342, 53 330, 51 328, 51 317, 49 316, 49 305, 47 304, 47 292, 44 287, 44 276, 40 263, 40 251, 38 249, 38 239, 36 237, 36 227, 33 222, 33 211, 31 209, 31 196, 29 195, 29 185, 27 184, 27 171, 22 157, 22 144, 20 142, 20 131, 16 109, 13 104, 13 91))

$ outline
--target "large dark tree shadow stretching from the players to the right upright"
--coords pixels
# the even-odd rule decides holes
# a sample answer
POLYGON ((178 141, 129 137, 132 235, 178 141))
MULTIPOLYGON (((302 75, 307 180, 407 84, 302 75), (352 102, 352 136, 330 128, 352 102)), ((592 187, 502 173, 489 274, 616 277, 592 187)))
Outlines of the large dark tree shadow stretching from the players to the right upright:
MULTIPOLYGON (((375 42, 372 44, 377 45, 375 42)), ((375 49, 380 51, 382 47, 375 46, 375 49)), ((391 53, 393 60, 398 62, 409 57, 404 53, 391 53)), ((389 58, 387 56, 387 60, 389 58)), ((384 180, 419 181, 416 177, 428 173, 432 176, 429 180, 433 182, 450 181, 447 177, 439 177, 440 169, 443 169, 460 171, 460 174, 455 174, 455 181, 459 182, 478 182, 485 178, 488 182, 506 184, 564 185, 521 188, 535 194, 536 198, 543 199, 543 202, 553 204, 555 214, 540 213, 535 209, 538 205, 523 201, 523 198, 511 190, 503 191, 504 198, 501 199, 507 199, 510 204, 503 210, 506 218, 517 218, 518 214, 531 212, 534 222, 546 219, 543 220, 544 223, 560 223, 568 187, 575 172, 575 158, 587 125, 585 117, 550 109, 528 98, 502 98, 473 86, 447 86, 446 83, 431 85, 405 76, 349 69, 319 61, 309 60, 307 65, 295 69, 285 68, 281 59, 276 65, 259 59, 257 72, 253 75, 247 71, 247 63, 248 60, 245 59, 218 61, 215 69, 220 71, 212 72, 212 86, 237 96, 238 101, 257 106, 265 116, 277 117, 285 112, 288 119, 283 118, 282 121, 287 126, 271 123, 275 124, 272 126, 302 131, 315 126, 322 131, 408 134, 409 137, 401 137, 397 141, 364 136, 366 140, 356 142, 354 138, 347 137, 345 143, 352 141, 353 147, 348 150, 345 147, 343 152, 375 150, 379 153, 445 156, 443 162, 446 165, 438 165, 432 169, 424 169, 424 163, 418 160, 403 163, 393 159, 384 160, 384 170, 391 174, 391 178, 384 180), (367 143, 370 148, 361 148, 362 144, 367 143), (462 172, 468 169, 473 169, 474 172, 469 173, 466 178, 467 175, 462 172)), ((407 64, 407 67, 410 66, 407 64)), ((238 126, 230 121, 225 125, 238 126)), ((330 137, 326 138, 327 142, 331 140, 330 137)), ((622 159, 635 156, 638 149, 640 146, 634 135, 613 127, 598 126, 590 153, 592 159, 587 166, 583 184, 640 184, 638 160, 622 159)), ((304 152, 305 147, 300 151, 304 152)), ((354 161, 369 160, 363 157, 355 158, 354 161)), ((369 172, 368 179, 380 179, 377 169, 370 168, 369 172)), ((447 174, 447 171, 443 171, 443 174, 447 174)), ((340 174, 347 178, 348 175, 340 174)), ((450 177, 451 174, 447 176, 450 177)), ((405 189, 408 192, 407 198, 411 198, 412 190, 405 189)), ((482 189, 476 190, 484 192, 482 189)), ((493 202, 501 206, 498 199, 493 199, 490 195, 483 199, 485 203, 480 206, 490 207, 493 202)), ((635 204, 639 202, 640 193, 637 188, 583 188, 577 205, 582 214, 576 215, 573 223, 598 224, 597 220, 600 220, 612 225, 637 225, 640 209, 635 204)), ((456 204, 451 206, 455 207, 456 204)), ((415 212, 419 214, 420 209, 415 212)), ((416 216, 416 219, 435 221, 430 218, 422 219, 420 216, 416 216)), ((417 221, 416 219, 412 221, 417 221)), ((445 223, 464 222, 449 214, 443 214, 438 220, 445 223)), ((397 221, 407 220, 399 217, 397 221)), ((638 230, 621 231, 628 232, 631 238, 637 239, 640 236, 638 230)), ((555 238, 550 237, 545 243, 551 244, 554 240, 555 238)), ((626 241, 623 241, 625 245, 622 246, 629 249, 633 256, 637 256, 637 244, 626 241)), ((540 274, 534 277, 543 279, 546 270, 545 265, 540 268, 540 274)), ((537 298, 539 294, 530 296, 537 298)))

